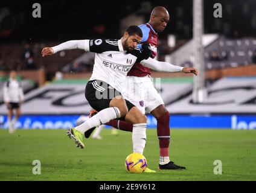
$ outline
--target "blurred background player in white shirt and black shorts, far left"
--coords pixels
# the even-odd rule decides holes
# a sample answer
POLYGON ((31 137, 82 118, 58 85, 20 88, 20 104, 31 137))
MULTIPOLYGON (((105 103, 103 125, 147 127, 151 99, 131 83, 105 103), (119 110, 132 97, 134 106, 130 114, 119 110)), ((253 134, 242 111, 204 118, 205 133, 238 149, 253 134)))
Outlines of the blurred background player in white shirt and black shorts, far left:
POLYGON ((10 72, 10 79, 4 85, 4 103, 8 109, 8 128, 9 133, 14 133, 16 130, 15 124, 21 116, 21 104, 24 103, 24 92, 21 83, 17 80, 16 71, 10 72), (16 110, 16 115, 12 119, 16 110))

